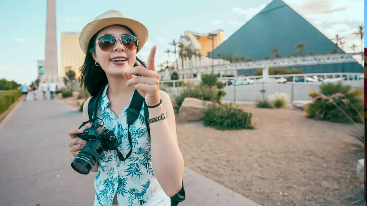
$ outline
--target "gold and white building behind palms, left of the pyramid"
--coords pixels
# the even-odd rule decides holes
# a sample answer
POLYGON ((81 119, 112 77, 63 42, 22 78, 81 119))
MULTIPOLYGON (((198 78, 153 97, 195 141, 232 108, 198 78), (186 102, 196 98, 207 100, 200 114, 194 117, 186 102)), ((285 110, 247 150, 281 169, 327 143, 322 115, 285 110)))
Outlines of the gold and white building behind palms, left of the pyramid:
POLYGON ((216 47, 218 47, 220 44, 222 44, 224 42, 224 31, 221 29, 209 32, 209 33, 197 33, 197 32, 192 32, 192 31, 185 31, 184 32, 184 36, 194 36, 196 38, 196 40, 199 42, 201 49, 199 49, 199 51, 201 52, 201 54, 203 54, 204 56, 208 55, 208 52, 213 51, 213 49, 215 49, 216 47), (211 38, 209 35, 215 35, 214 36, 214 42, 212 42, 211 38), (214 47, 213 47, 213 43, 214 43, 214 47))

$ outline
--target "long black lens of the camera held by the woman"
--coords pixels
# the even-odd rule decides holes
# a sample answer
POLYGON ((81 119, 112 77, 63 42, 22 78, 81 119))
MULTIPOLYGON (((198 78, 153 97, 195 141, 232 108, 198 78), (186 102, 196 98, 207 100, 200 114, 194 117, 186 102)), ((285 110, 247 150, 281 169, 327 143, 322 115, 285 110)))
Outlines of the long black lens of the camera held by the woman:
POLYGON ((98 161, 103 149, 102 140, 91 138, 73 159, 71 167, 80 174, 88 174, 98 161))

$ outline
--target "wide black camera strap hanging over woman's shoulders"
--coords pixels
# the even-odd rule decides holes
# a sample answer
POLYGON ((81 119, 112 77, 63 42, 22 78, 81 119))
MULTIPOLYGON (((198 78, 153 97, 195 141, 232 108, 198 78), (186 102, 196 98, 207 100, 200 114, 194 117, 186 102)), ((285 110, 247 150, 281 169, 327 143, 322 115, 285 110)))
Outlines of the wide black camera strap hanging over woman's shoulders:
MULTIPOLYGON (((88 116, 89 116, 90 120, 85 122, 85 124, 87 124, 88 122, 94 121, 96 119, 97 109, 98 109, 98 102, 99 102, 99 99, 102 96, 102 93, 103 93, 104 89, 105 89, 105 87, 102 87, 102 89, 101 89, 101 91, 99 91, 98 95, 97 96, 92 96, 92 98, 89 100, 89 103, 88 103, 88 116)), ((126 115, 127 139, 129 141, 130 151, 126 154, 126 157, 124 157, 123 154, 121 154, 121 152, 119 150, 116 150, 120 161, 125 161, 131 155, 131 152, 132 152, 132 138, 131 138, 131 133, 130 133, 130 126, 132 124, 134 124, 134 122, 139 118, 140 110, 143 106, 143 103, 144 103, 144 98, 139 94, 139 92, 137 90, 135 90, 134 94, 132 95, 129 107, 127 108, 127 115, 126 115)))

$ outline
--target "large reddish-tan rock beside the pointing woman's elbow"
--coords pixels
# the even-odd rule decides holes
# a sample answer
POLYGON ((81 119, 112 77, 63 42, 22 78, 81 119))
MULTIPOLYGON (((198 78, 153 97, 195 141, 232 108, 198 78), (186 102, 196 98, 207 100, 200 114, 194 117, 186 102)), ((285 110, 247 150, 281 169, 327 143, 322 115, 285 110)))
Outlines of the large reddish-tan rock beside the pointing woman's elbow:
POLYGON ((218 103, 186 97, 178 110, 179 119, 183 122, 202 120, 212 106, 218 106, 218 103))

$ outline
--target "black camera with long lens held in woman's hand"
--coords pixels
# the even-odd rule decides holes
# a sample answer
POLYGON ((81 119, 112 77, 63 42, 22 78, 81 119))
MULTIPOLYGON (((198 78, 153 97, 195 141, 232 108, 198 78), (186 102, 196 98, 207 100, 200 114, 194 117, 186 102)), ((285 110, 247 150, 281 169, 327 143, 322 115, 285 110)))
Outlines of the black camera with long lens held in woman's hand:
MULTIPOLYGON (((83 122, 79 129, 86 123, 83 122)), ((88 174, 103 151, 117 149, 118 141, 115 133, 106 129, 95 119, 90 128, 84 129, 82 133, 76 136, 87 141, 71 163, 71 167, 80 174, 88 174)))

